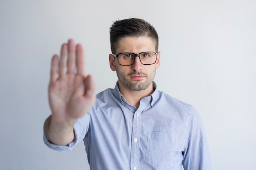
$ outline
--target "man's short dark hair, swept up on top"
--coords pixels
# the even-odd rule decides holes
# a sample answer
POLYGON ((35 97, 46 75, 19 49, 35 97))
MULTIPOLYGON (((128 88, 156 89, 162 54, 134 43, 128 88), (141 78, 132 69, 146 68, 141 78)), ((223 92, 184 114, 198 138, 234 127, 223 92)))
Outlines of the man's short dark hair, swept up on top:
POLYGON ((155 41, 155 50, 158 50, 158 35, 155 28, 143 19, 129 18, 117 20, 110 27, 110 46, 112 54, 117 52, 119 40, 123 37, 147 36, 155 41))

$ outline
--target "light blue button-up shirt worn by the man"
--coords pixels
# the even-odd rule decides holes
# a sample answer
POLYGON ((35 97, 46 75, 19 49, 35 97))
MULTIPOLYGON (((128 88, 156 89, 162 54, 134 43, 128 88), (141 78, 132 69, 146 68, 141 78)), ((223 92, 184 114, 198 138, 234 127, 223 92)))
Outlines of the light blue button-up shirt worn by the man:
POLYGON ((207 139, 198 112, 158 91, 130 105, 118 85, 97 94, 95 105, 74 124, 75 140, 67 146, 45 144, 65 151, 81 140, 90 170, 211 170, 207 139))

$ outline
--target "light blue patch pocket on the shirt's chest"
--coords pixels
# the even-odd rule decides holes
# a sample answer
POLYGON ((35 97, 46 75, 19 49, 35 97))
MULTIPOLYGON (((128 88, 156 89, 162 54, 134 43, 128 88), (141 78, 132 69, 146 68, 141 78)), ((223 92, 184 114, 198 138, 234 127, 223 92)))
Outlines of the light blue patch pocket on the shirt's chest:
POLYGON ((148 132, 146 163, 159 169, 170 169, 182 163, 178 150, 178 135, 166 132, 148 132))

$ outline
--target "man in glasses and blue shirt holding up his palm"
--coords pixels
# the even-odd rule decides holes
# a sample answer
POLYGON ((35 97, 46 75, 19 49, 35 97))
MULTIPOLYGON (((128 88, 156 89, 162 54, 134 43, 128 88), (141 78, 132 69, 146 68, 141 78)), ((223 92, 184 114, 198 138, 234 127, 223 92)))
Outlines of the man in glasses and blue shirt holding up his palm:
POLYGON ((137 18, 116 21, 110 44, 118 81, 96 98, 80 44, 63 44, 59 64, 53 56, 45 144, 64 151, 83 140, 91 170, 211 170, 197 111, 153 81, 161 54, 155 28, 137 18))

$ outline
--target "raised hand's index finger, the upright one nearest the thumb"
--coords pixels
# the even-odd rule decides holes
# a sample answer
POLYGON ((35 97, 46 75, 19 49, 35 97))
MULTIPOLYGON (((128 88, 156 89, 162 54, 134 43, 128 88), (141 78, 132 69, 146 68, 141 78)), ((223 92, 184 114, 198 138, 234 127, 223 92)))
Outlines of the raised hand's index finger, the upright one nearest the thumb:
POLYGON ((85 75, 85 58, 83 54, 83 47, 81 44, 76 45, 76 69, 77 74, 84 76, 85 75))

